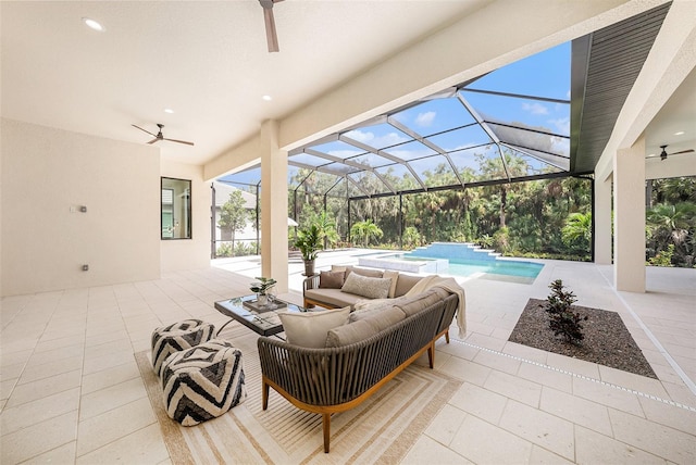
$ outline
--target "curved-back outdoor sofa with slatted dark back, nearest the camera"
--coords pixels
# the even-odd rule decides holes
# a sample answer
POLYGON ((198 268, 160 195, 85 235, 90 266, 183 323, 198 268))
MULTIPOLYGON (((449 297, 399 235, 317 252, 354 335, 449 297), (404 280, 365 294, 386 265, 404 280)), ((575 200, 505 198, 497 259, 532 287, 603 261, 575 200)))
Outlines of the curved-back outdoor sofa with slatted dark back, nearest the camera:
POLYGON ((434 286, 352 313, 349 307, 313 312, 322 318, 345 312, 348 319, 326 331, 324 347, 295 343, 284 322, 287 341, 258 340, 263 410, 273 388, 298 409, 321 414, 328 453, 332 414, 358 406, 426 351, 433 368, 435 341, 448 336, 455 313, 463 312, 459 296, 463 290, 451 293, 434 286))

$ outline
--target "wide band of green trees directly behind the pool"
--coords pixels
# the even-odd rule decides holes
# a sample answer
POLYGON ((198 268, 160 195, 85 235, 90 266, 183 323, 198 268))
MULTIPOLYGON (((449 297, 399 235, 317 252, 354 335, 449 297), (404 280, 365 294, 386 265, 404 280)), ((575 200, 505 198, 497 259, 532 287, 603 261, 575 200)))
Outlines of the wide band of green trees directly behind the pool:
MULTIPOLYGON (((505 173, 499 158, 475 155, 471 163, 461 168, 459 178, 448 165, 435 166, 424 172, 423 181, 427 187, 457 187, 459 179, 477 183, 505 173)), ((506 166, 512 177, 544 173, 535 172, 526 161, 510 153, 506 153, 506 166)), ((397 192, 420 188, 408 172, 398 176, 395 167, 381 172, 381 178, 397 192)), ((591 212, 588 178, 559 177, 465 189, 459 184, 459 189, 374 196, 384 190, 382 179, 365 174, 359 179, 356 176, 353 184, 325 173, 298 169, 290 184, 299 187, 290 190, 288 205, 300 225, 321 224, 316 218, 326 212, 339 247, 350 241, 362 247, 412 249, 434 241, 460 241, 517 256, 591 259, 589 216, 585 216, 589 222, 573 224, 579 234, 573 240, 568 242, 569 236, 563 241, 562 236, 570 215, 591 212), (352 199, 348 201, 347 196, 352 199), (368 232, 364 228, 372 229, 370 224, 381 235, 368 232)))

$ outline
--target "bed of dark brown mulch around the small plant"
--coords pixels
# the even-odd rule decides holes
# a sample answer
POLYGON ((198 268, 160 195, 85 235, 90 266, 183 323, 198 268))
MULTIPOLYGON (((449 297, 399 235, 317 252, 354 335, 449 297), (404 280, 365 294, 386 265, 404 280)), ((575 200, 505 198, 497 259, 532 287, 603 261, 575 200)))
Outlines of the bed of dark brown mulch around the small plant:
POLYGON ((575 345, 554 336, 545 304, 545 300, 530 299, 508 340, 657 379, 617 312, 573 305, 573 313, 587 316, 581 322, 582 344, 575 345))

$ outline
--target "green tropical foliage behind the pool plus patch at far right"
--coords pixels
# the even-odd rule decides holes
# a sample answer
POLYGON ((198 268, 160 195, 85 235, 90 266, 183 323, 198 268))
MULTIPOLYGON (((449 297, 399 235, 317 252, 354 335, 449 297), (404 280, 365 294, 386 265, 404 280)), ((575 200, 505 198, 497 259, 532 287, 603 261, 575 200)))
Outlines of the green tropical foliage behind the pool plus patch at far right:
MULTIPOLYGON (((318 225, 324 248, 412 249, 434 241, 475 242, 506 255, 591 260, 592 179, 556 177, 514 183, 546 174, 520 156, 477 154, 456 174, 445 163, 423 172, 425 192, 399 166, 351 175, 296 169, 288 191, 289 216, 303 227, 318 225), (513 183, 462 188, 507 173, 513 183), (394 196, 382 196, 383 180, 394 196), (438 189, 452 186, 453 189, 438 189), (398 192, 403 192, 399 194, 398 192), (350 200, 348 200, 350 198, 350 200), (368 232, 373 225, 380 232, 368 232)), ((646 261, 659 266, 695 266, 696 177, 650 181, 646 209, 646 261)))

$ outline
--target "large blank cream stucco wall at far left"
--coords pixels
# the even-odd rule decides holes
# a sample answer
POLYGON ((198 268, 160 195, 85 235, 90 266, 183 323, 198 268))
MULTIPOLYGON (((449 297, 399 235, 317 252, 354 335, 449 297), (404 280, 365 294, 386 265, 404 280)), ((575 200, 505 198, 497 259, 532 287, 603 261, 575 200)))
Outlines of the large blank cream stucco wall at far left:
POLYGON ((2 296, 159 278, 159 149, 7 118, 0 136, 2 296))

